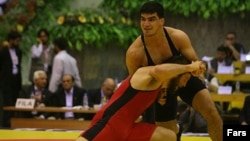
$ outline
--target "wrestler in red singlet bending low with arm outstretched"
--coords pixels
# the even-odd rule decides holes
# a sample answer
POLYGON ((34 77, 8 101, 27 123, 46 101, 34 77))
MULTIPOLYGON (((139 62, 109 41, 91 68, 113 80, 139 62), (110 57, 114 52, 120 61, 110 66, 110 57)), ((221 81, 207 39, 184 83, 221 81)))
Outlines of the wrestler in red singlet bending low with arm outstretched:
POLYGON ((174 56, 164 64, 139 68, 123 80, 76 141, 175 141, 170 129, 135 120, 154 103, 161 88, 175 91, 184 87, 191 74, 201 74, 204 67, 201 61, 190 64, 186 58, 174 56))

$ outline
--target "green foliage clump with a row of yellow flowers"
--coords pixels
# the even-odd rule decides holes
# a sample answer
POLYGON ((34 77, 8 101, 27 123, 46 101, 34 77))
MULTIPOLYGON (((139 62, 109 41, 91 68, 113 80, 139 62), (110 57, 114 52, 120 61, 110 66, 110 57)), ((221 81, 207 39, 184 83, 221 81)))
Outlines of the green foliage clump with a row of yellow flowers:
POLYGON ((57 23, 53 32, 70 39, 70 46, 77 50, 84 46, 103 48, 110 44, 124 48, 138 35, 138 27, 130 19, 101 10, 62 13, 57 23))

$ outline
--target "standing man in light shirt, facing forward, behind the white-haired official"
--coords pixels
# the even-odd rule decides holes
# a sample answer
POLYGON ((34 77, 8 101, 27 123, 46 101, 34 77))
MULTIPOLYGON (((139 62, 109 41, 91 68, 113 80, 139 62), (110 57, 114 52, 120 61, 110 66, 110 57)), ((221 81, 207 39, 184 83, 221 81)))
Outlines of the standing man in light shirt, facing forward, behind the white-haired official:
POLYGON ((31 47, 31 81, 36 70, 44 70, 47 73, 48 80, 50 80, 53 56, 54 51, 52 45, 49 44, 49 32, 42 28, 37 33, 37 43, 31 47))

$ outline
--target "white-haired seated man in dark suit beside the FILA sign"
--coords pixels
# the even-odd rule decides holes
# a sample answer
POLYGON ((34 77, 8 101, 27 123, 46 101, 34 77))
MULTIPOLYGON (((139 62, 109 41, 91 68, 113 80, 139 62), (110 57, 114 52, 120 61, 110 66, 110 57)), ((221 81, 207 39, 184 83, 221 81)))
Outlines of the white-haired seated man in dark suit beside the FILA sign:
MULTIPOLYGON (((33 84, 22 87, 19 98, 35 99, 35 107, 53 105, 53 94, 46 88, 47 75, 43 70, 37 70, 33 74, 33 84)), ((47 118, 50 113, 22 112, 19 116, 26 118, 47 118)))

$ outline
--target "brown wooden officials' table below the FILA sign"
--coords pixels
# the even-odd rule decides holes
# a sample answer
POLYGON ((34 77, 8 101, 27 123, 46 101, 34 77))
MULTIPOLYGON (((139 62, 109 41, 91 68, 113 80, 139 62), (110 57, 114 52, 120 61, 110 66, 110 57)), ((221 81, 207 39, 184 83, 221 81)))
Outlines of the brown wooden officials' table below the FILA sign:
MULTIPOLYGON (((73 109, 73 108, 60 108, 60 107, 39 107, 33 109, 16 108, 14 106, 7 106, 3 108, 5 111, 13 112, 74 112, 95 114, 95 109, 73 109)), ((72 129, 84 130, 90 125, 90 120, 77 120, 77 119, 35 119, 35 118, 11 118, 11 128, 46 128, 46 129, 72 129)))

